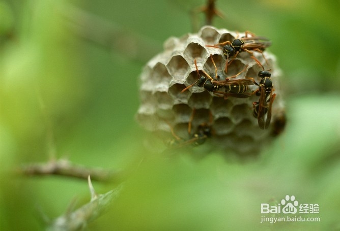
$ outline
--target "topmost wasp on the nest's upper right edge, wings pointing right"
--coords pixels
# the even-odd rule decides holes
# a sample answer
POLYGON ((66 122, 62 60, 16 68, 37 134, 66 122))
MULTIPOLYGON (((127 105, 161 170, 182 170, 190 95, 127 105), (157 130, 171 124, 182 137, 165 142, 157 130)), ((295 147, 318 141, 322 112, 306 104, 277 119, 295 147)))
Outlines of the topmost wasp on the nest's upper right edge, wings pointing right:
POLYGON ((218 44, 215 44, 215 45, 206 45, 206 46, 222 49, 223 56, 226 59, 224 72, 227 73, 228 72, 228 65, 230 65, 230 63, 237 57, 237 55, 240 52, 246 51, 252 57, 254 57, 253 51, 260 52, 262 54, 263 58, 267 62, 267 59, 264 56, 263 52, 270 45, 271 45, 271 42, 267 38, 256 37, 251 32, 246 31, 245 36, 240 38, 240 39, 235 38, 235 39, 232 40, 232 42, 225 41, 223 43, 218 43, 218 44), (251 37, 248 37, 248 35, 251 35, 251 37), (220 46, 222 46, 222 47, 220 47, 220 46), (232 58, 231 61, 229 61, 230 58, 232 58))

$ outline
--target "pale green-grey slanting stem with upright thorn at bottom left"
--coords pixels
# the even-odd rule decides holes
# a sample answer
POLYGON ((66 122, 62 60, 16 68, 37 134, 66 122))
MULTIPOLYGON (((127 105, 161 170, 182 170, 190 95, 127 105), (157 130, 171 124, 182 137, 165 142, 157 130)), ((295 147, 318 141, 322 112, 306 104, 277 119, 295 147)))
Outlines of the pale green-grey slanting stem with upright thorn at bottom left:
POLYGON ((91 201, 75 210, 74 212, 62 215, 49 223, 47 230, 81 230, 87 224, 102 214, 104 214, 112 201, 116 199, 122 190, 120 185, 116 189, 110 190, 105 194, 96 194, 91 183, 90 176, 88 177, 89 188, 91 192, 91 201))

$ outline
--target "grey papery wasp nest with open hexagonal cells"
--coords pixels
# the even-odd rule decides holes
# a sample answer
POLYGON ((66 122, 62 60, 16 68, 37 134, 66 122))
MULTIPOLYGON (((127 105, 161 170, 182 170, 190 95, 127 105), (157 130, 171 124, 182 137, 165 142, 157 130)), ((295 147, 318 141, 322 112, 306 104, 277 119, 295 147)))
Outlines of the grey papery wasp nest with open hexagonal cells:
MULTIPOLYGON (((197 127, 207 123, 211 126, 212 136, 195 149, 209 146, 211 150, 221 150, 227 155, 259 154, 264 144, 272 139, 273 133, 279 130, 280 127, 275 126, 280 125, 273 126, 273 123, 280 121, 284 113, 278 81, 280 71, 276 67, 274 55, 267 51, 263 52, 266 62, 260 52, 253 52, 265 70, 271 69, 271 80, 276 93, 268 129, 260 129, 257 118, 252 115, 252 103, 259 101, 259 96, 255 94, 246 98, 231 96, 224 98, 197 84, 181 92, 199 78, 194 65, 195 59, 199 70, 204 70, 215 78, 211 54, 220 80, 236 75, 246 68, 246 71, 236 78, 253 78, 259 83, 261 78, 258 77, 258 72, 262 69, 249 53, 240 52, 228 66, 228 73, 225 74, 222 50, 206 47, 243 36, 242 33, 204 26, 197 34, 169 38, 164 44, 164 51, 147 63, 140 76, 141 103, 137 121, 141 126, 152 131, 156 137, 163 137, 159 134, 165 134, 167 138, 174 137, 171 133, 173 128, 176 136, 190 140, 197 127), (192 124, 191 134, 188 133, 189 122, 192 124)), ((256 90, 258 86, 251 85, 250 88, 256 90)))

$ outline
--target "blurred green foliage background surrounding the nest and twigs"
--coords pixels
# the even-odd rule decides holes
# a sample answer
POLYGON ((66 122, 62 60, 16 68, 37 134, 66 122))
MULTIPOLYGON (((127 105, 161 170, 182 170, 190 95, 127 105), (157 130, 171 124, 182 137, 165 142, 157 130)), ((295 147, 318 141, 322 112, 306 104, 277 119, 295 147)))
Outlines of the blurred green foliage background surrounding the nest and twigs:
MULTIPOLYGON (((92 230, 339 230, 340 2, 217 1, 214 26, 271 39, 288 125, 259 159, 160 158, 135 122, 138 75, 169 37, 203 25, 205 1, 0 2, 0 229, 44 228, 86 181, 18 176, 25 163, 67 157, 129 170, 92 230), (193 17, 192 17, 193 16, 193 17), (287 194, 319 204, 320 222, 261 224, 261 203, 287 194), (109 227, 109 228, 108 228, 109 227)), ((197 147, 200 148, 200 147, 197 147)), ((98 193, 113 185, 94 182, 98 193)))

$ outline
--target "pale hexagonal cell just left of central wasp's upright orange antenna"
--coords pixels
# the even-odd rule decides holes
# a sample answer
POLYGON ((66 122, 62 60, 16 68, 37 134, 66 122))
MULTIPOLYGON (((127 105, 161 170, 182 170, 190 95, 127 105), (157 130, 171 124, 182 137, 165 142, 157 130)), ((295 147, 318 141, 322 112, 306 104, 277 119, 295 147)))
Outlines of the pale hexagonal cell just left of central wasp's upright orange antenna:
POLYGON ((166 64, 166 68, 173 78, 179 80, 184 80, 190 71, 188 62, 181 55, 173 56, 166 64))

